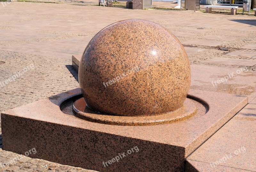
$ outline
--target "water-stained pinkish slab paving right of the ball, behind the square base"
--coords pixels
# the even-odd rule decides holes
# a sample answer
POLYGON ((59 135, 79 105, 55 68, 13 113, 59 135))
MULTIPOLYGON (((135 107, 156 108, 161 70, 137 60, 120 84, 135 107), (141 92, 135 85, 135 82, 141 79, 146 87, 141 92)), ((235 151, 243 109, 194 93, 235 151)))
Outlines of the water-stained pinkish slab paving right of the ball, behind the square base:
POLYGON ((242 71, 241 68, 191 65, 190 89, 246 95, 252 101, 256 97, 256 72, 242 71))

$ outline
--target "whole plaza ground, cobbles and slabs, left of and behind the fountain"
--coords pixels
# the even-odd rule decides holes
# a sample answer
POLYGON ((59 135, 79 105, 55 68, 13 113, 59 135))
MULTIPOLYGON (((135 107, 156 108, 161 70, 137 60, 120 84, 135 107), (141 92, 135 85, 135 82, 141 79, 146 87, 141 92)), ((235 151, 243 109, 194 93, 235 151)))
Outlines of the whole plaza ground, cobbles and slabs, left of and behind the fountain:
MULTIPOLYGON (((0 63, 0 112, 77 88, 72 54, 81 54, 103 27, 127 18, 151 20, 172 31, 184 45, 191 64, 247 66, 256 71, 253 16, 77 4, 12 2, 0 7, 0 61, 5 62, 0 63), (223 59, 250 62, 235 64, 223 59), (9 83, 3 83, 8 78, 9 83)), ((25 155, 13 162, 17 156, 0 149, 0 163, 4 164, 0 164, 0 171, 90 171, 25 155)))

